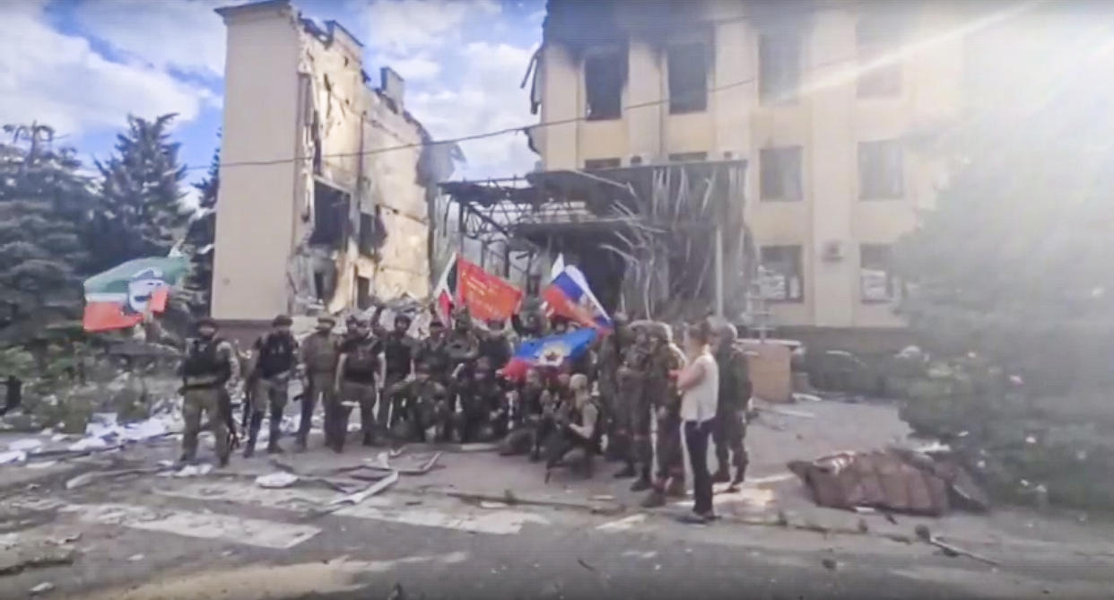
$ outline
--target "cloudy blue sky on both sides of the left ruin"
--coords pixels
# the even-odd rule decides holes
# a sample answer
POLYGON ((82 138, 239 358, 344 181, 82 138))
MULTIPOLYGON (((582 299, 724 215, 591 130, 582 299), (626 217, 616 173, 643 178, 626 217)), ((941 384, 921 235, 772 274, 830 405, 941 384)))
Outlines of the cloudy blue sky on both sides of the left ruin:
MULTIPOLYGON (((225 29, 213 9, 243 0, 18 0, 0 3, 0 122, 52 125, 89 163, 111 151, 133 112, 177 112, 192 179, 222 120, 225 29)), ((407 108, 436 138, 528 125, 519 89, 541 39, 544 0, 294 0, 365 47, 365 68, 407 79, 407 108)), ((455 177, 521 174, 521 135, 463 145, 455 177)))

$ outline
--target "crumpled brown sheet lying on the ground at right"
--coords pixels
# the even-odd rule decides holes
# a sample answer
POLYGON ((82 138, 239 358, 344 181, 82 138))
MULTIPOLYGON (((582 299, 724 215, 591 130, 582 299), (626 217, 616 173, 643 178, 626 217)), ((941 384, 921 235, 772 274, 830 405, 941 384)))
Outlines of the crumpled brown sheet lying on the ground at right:
POLYGON ((981 491, 961 468, 911 451, 841 452, 812 462, 793 461, 789 469, 821 506, 871 506, 936 517, 946 513, 952 501, 986 508, 981 491))

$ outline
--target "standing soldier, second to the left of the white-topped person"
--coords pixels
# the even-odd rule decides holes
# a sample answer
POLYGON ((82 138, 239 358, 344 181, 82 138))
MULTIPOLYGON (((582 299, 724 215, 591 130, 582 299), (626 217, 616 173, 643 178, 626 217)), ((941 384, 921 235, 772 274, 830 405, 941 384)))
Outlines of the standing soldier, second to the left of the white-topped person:
POLYGON ((649 338, 645 327, 638 327, 634 333, 634 343, 623 352, 623 363, 616 373, 618 392, 616 394, 615 419, 619 422, 615 425, 615 439, 626 449, 623 456, 626 465, 618 473, 615 473, 616 479, 638 475, 635 464, 652 456, 649 404, 645 397, 648 367, 649 338))

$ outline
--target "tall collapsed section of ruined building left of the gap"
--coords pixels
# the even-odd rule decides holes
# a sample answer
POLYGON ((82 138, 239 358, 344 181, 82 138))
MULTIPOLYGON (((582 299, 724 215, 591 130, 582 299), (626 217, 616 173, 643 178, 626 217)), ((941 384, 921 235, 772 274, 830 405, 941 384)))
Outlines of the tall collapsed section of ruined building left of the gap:
POLYGON ((286 0, 217 13, 227 58, 213 316, 246 331, 280 313, 426 296, 429 207, 451 160, 424 144, 402 78, 384 67, 370 87, 360 41, 286 0))

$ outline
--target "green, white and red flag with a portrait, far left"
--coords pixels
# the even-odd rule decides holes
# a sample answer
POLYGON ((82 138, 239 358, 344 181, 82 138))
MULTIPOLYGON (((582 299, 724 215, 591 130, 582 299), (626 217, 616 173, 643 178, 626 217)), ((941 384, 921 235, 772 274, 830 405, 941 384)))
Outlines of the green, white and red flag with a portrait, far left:
POLYGON ((166 311, 170 288, 189 268, 184 256, 136 258, 85 281, 87 332, 124 329, 138 325, 146 314, 166 311))

